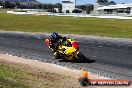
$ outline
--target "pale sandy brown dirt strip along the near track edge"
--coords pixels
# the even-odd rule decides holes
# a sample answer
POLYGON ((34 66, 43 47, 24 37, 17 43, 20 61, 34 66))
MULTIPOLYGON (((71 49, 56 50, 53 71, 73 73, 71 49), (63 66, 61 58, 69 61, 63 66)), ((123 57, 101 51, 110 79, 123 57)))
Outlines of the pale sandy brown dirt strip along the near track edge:
MULTIPOLYGON (((28 72, 35 79, 27 77, 33 88, 83 88, 78 82, 80 70, 72 70, 55 64, 39 62, 37 60, 24 59, 16 56, 0 54, 0 64, 28 72)), ((104 79, 89 73, 91 79, 104 79)), ((87 88, 131 88, 131 87, 105 87, 90 86, 87 88)))

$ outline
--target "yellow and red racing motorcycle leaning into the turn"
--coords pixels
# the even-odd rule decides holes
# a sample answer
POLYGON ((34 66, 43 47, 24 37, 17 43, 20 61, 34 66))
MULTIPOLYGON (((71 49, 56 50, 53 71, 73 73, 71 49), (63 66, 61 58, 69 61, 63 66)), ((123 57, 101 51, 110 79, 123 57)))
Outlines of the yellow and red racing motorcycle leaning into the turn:
MULTIPOLYGON (((50 40, 46 39, 45 44, 50 48, 50 40)), ((64 61, 87 61, 87 58, 79 51, 76 41, 67 38, 58 44, 58 56, 64 61)))

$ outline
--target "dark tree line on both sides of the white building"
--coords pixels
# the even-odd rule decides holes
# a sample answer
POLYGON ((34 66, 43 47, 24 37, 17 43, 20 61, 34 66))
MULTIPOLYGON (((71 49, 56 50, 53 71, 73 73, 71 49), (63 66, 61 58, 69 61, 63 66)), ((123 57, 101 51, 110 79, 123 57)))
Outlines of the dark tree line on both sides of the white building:
MULTIPOLYGON (((58 8, 59 13, 62 13, 62 4, 56 3, 56 4, 46 4, 46 3, 31 3, 31 2, 9 2, 0 1, 0 6, 3 6, 4 9, 44 9, 48 12, 54 12, 57 11, 54 8, 58 8)), ((78 9, 82 9, 82 11, 86 11, 87 13, 90 13, 91 10, 93 10, 93 5, 86 6, 86 5, 78 5, 76 6, 78 9)), ((72 11, 72 13, 81 13, 82 11, 75 9, 72 11)), ((67 12, 68 13, 68 12, 67 12)))

